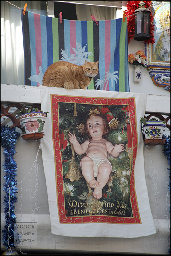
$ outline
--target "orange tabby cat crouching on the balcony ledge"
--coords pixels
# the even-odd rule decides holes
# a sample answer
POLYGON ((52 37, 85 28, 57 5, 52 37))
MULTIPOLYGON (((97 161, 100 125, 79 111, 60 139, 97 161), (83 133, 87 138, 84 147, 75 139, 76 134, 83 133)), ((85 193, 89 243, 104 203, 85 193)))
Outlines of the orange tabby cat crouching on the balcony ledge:
POLYGON ((70 62, 58 61, 44 73, 42 85, 66 89, 87 89, 93 77, 98 74, 98 61, 77 66, 70 62))

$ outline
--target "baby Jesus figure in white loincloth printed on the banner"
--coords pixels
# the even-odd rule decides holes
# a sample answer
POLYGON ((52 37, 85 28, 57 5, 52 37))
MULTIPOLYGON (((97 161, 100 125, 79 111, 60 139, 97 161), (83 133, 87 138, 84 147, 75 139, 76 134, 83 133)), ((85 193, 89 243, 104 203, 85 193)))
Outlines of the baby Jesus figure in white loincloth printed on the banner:
POLYGON ((124 151, 124 144, 115 144, 105 138, 110 130, 107 119, 100 114, 90 114, 84 125, 85 134, 91 139, 80 144, 75 134, 68 133, 69 141, 78 155, 86 153, 81 159, 82 175, 91 188, 94 188, 93 196, 102 197, 102 189, 109 180, 112 165, 108 160, 108 153, 114 158, 124 151))

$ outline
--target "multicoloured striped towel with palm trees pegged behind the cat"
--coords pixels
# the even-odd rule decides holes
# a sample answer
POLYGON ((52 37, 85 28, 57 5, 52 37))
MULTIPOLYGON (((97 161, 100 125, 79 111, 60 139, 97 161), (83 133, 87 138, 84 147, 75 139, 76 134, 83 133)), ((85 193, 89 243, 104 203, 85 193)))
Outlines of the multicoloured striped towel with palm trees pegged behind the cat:
POLYGON ((62 20, 21 10, 25 85, 39 86, 52 63, 99 60, 88 89, 129 92, 127 19, 62 20))

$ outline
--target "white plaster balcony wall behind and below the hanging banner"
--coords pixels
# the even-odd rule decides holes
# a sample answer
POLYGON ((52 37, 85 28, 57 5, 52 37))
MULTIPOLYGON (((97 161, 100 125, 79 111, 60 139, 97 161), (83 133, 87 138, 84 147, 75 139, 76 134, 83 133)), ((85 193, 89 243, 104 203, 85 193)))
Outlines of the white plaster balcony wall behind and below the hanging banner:
MULTIPOLYGON (((145 177, 157 233, 134 239, 73 238, 51 234, 47 188, 39 145, 40 141, 29 142, 20 137, 17 140, 16 154, 14 155, 14 160, 18 165, 18 202, 15 205, 17 222, 21 222, 21 220, 22 222, 30 222, 31 220, 32 222, 37 222, 37 246, 23 246, 21 249, 39 248, 167 254, 170 244, 170 221, 167 220, 170 204, 168 191, 169 171, 167 170, 169 166, 162 152, 162 145, 149 146, 148 148, 144 146, 145 177), (35 162, 37 153, 37 162, 35 162), (38 187, 35 185, 37 180, 38 187)), ((4 176, 3 164, 4 155, 1 146, 1 231, 5 225, 2 185, 4 176)), ((1 247, 4 247, 2 240, 1 247)))

